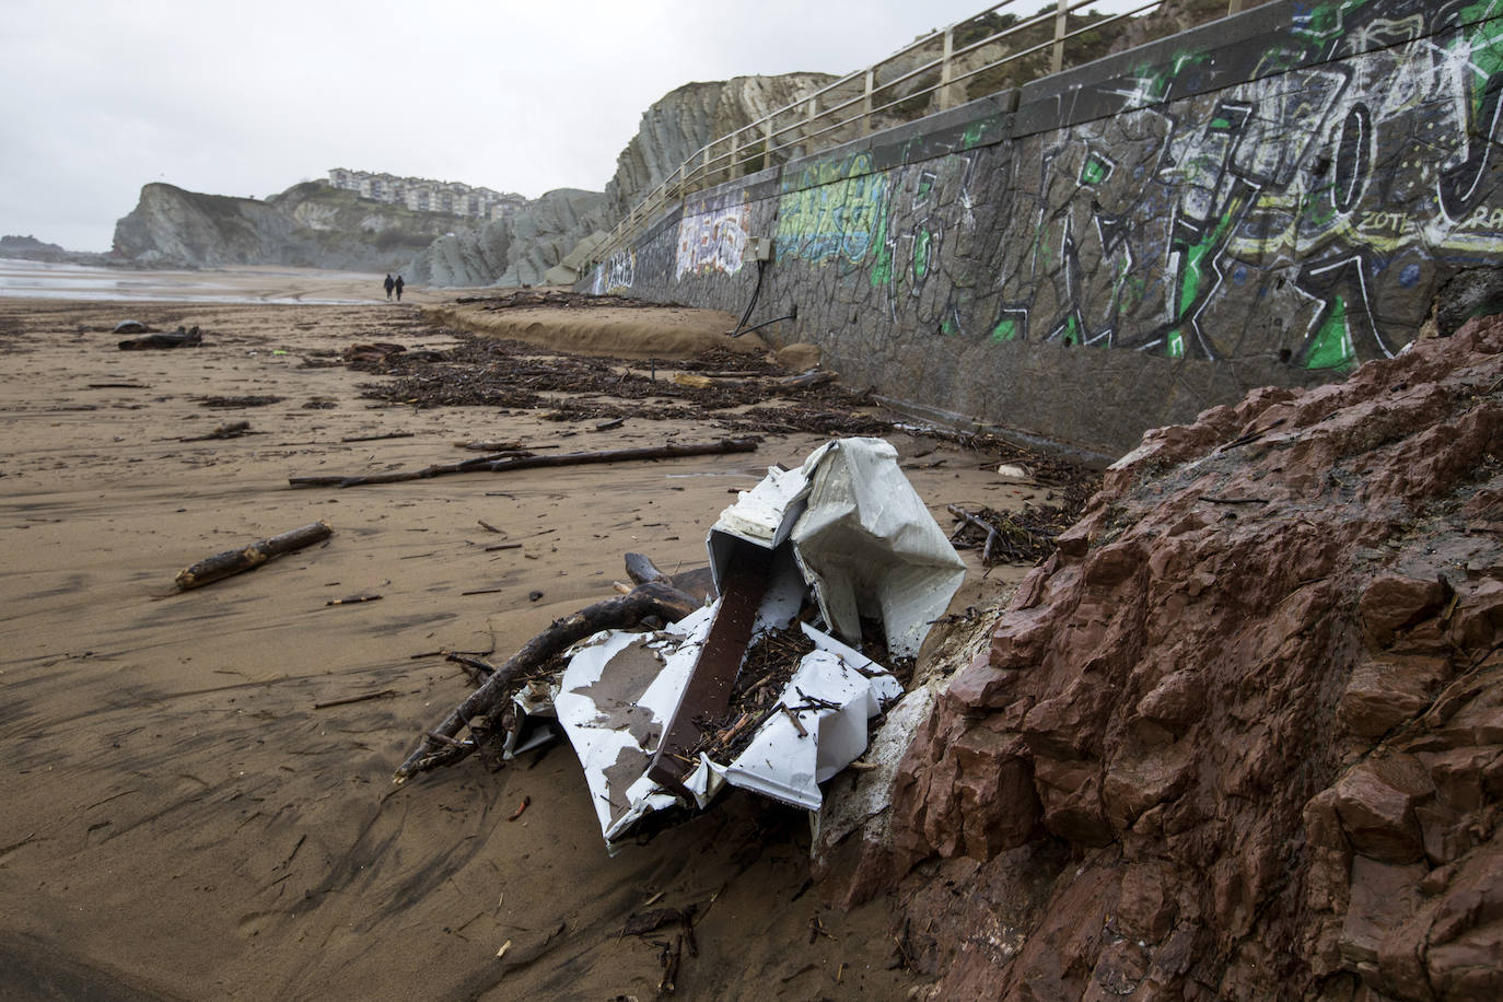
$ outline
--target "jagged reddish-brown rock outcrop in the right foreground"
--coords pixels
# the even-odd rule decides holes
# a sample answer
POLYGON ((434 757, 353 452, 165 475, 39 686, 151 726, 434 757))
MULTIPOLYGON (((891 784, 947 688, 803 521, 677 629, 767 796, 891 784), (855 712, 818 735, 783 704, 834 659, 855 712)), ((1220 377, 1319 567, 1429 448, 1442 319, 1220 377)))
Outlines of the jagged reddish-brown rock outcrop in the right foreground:
POLYGON ((899 771, 932 997, 1503 997, 1500 352, 1109 470, 899 771))

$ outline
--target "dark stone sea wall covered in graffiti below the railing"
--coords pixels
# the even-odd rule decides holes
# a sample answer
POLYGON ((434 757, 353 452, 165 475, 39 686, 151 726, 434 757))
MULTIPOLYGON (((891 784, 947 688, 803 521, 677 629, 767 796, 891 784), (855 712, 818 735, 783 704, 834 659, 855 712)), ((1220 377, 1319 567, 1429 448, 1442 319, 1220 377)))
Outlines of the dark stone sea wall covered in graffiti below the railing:
POLYGON ((1272 3, 694 195, 582 287, 797 308, 848 385, 1115 455, 1503 261, 1500 98, 1503 0, 1272 3))

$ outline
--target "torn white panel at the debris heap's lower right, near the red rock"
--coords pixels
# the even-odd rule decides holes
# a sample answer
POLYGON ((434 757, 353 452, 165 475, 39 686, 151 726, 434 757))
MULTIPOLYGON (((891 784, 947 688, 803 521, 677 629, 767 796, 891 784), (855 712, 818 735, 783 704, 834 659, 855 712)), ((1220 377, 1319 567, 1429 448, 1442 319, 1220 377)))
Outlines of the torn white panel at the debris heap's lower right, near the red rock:
POLYGON ((780 696, 789 709, 758 729, 745 751, 726 766, 726 783, 819 810, 819 784, 866 750, 866 721, 882 712, 884 699, 900 694, 902 685, 891 675, 869 678, 830 650, 804 655, 780 696))

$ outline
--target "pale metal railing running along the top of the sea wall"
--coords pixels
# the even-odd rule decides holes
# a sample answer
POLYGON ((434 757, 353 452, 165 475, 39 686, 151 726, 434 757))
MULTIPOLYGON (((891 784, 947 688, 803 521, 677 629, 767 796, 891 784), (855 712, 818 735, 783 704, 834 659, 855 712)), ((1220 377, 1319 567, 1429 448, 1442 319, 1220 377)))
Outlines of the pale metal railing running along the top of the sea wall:
MULTIPOLYGON (((1066 42, 1147 14, 1162 3, 1162 0, 1144 0, 1130 11, 1100 17, 1072 30, 1070 15, 1081 8, 1093 6, 1097 0, 1058 0, 1054 11, 1045 9, 1028 18, 1013 20, 1010 15, 992 18, 1013 2, 1003 0, 950 27, 924 35, 879 63, 846 74, 735 132, 711 140, 631 207, 595 251, 595 260, 606 260, 622 249, 636 237, 640 227, 657 219, 685 195, 840 146, 879 128, 1006 90, 1015 84, 996 71, 1045 50, 1051 50, 1048 72, 1057 74, 1064 65, 1066 42), (1003 45, 1015 36, 1043 29, 1051 21, 1054 27, 1045 41, 1016 51, 998 53, 996 57, 989 57, 986 53, 987 47, 1003 45), (996 30, 992 30, 993 27, 996 30), (983 36, 972 38, 977 33, 983 36), (969 81, 984 74, 993 74, 993 81, 999 86, 969 93, 969 81), (938 98, 930 101, 932 95, 938 98), (938 104, 938 108, 930 108, 930 104, 938 104)), ((1235 14, 1241 6, 1243 0, 1228 0, 1228 14, 1235 14)))

